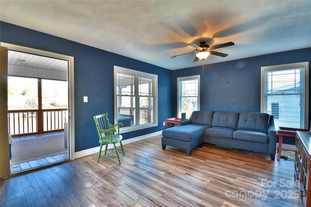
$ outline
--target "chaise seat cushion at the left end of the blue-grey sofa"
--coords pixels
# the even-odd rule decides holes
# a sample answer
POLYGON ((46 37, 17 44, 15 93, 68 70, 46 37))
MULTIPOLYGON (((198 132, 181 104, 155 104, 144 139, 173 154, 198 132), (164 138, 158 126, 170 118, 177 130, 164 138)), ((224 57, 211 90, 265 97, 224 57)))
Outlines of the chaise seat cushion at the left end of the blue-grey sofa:
POLYGON ((185 125, 164 129, 162 136, 174 140, 191 142, 193 139, 202 137, 204 130, 210 126, 206 125, 185 125))

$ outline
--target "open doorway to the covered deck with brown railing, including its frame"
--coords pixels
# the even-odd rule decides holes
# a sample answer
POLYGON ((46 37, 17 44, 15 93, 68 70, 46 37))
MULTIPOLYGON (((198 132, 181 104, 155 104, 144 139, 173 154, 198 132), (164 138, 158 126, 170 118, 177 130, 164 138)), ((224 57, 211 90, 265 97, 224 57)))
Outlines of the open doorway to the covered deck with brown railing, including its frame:
MULTIPOLYGON (((35 157, 35 155, 29 160, 22 160, 24 163, 22 164, 23 168, 19 167, 19 170, 25 171, 48 165, 53 163, 52 159, 54 159, 54 162, 71 159, 74 150, 71 144, 73 137, 71 126, 73 126, 74 119, 70 116, 71 106, 73 106, 73 82, 71 82, 73 81, 73 57, 1 43, 1 46, 3 45, 8 46, 7 92, 9 94, 7 124, 8 132, 12 137, 11 142, 9 139, 9 143, 12 144, 9 150, 17 145, 25 148, 26 145, 22 144, 23 140, 29 141, 28 144, 34 146, 43 138, 45 138, 46 143, 50 142, 48 148, 56 148, 54 147, 55 142, 51 142, 49 138, 57 136, 58 140, 60 140, 58 142, 62 142, 63 147, 63 151, 60 153, 53 156, 51 153, 47 154, 48 159, 46 160, 49 161, 45 161, 45 163, 40 163, 40 160, 42 161, 44 158, 35 157), (14 101, 13 99, 14 104, 11 104, 12 88, 10 82, 12 81, 9 79, 15 79, 13 82, 17 83, 21 88, 23 87, 15 94, 19 98, 22 97, 22 101, 21 99, 14 101), (31 88, 29 84, 21 80, 33 80, 37 83, 37 86, 31 88), (62 87, 58 87, 62 84, 62 87), (59 88, 62 88, 61 91, 59 91, 59 88), (66 92, 65 101, 64 93, 60 95, 60 92, 66 92), (58 95, 62 97, 58 97, 58 95), (10 108, 11 106, 14 106, 15 109, 10 108), (12 142, 14 139, 19 143, 14 144, 12 142), (27 164, 29 166, 26 166, 27 164)), ((24 152, 26 154, 26 150, 24 152)), ((11 164, 12 157, 14 155, 11 154, 11 157, 8 158, 11 159, 11 164)), ((11 168, 10 173, 16 173, 19 170, 11 168)))

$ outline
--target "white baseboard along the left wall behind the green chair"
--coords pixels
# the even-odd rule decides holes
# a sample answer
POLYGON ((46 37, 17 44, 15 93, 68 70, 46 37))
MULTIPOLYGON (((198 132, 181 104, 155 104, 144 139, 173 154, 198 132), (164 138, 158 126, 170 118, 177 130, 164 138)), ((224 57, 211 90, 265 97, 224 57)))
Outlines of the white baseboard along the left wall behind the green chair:
MULTIPOLYGON (((142 136, 139 136, 139 137, 134 137, 134 138, 131 138, 131 139, 123 140, 122 141, 122 145, 138 142, 140 140, 148 139, 148 138, 155 137, 155 136, 158 136, 158 135, 161 135, 161 134, 162 134, 162 131, 156 131, 156 132, 151 133, 151 134, 145 134, 145 135, 142 135, 142 136)), ((116 145, 117 145, 117 147, 120 146, 119 143, 116 144, 116 145)), ((113 147, 113 145, 110 144, 108 146, 108 149, 111 149, 112 147, 113 147)), ((75 152, 73 154, 73 158, 70 158, 70 159, 73 160, 73 159, 77 159, 77 158, 82 158, 82 157, 85 157, 85 156, 88 156, 88 155, 92 155, 92 154, 98 153, 98 151, 99 151, 99 146, 93 147, 93 148, 90 148, 90 149, 86 149, 86 150, 82 150, 82 151, 79 151, 79 152, 75 152)))

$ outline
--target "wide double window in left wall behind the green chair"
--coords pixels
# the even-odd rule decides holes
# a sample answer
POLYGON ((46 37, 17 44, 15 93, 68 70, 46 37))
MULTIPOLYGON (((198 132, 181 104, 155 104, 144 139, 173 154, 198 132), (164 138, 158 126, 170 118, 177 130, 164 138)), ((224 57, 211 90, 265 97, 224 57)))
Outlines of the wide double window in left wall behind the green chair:
POLYGON ((114 67, 115 123, 121 132, 157 126, 157 75, 114 67))

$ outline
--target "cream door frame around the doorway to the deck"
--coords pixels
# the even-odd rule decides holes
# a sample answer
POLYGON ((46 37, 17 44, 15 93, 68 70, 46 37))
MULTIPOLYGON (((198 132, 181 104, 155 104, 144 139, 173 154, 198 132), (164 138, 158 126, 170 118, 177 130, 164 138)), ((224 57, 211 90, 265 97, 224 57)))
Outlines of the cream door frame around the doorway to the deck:
MULTIPOLYGON (((27 47, 3 43, 3 42, 1 42, 0 45, 1 45, 1 47, 7 48, 7 50, 15 50, 15 51, 19 51, 19 52, 31 53, 34 55, 46 56, 46 57, 51 57, 51 58, 56 58, 56 59, 68 61, 68 73, 67 73, 68 90, 69 90, 68 91, 68 94, 69 94, 69 105, 68 105, 68 115, 69 115, 69 117, 68 117, 69 118, 68 119, 68 127, 69 127, 68 138, 69 138, 69 144, 68 144, 68 147, 69 147, 69 159, 73 160, 74 159, 74 151, 75 151, 75 149, 74 149, 74 58, 72 56, 68 56, 68 55, 58 54, 58 53, 49 52, 49 51, 40 50, 40 49, 27 48, 27 47)), ((6 78, 7 78, 7 69, 6 69, 6 78)), ((7 81, 6 81, 6 84, 7 84, 7 81)), ((5 93, 7 94, 7 89, 6 89, 5 93)), ((2 91, 1 91, 1 94, 2 94, 2 91)), ((1 97, 1 102, 2 102, 2 97, 1 97)), ((6 103, 7 103, 7 96, 6 96, 6 103)), ((1 123, 1 125, 2 125, 2 123, 1 123)), ((7 119, 6 119, 6 126, 7 126, 7 119)), ((2 141, 0 144, 2 145, 2 141)), ((2 162, 1 162, 1 165, 2 165, 2 162)), ((2 166, 0 166, 0 167, 2 167, 2 166)))

